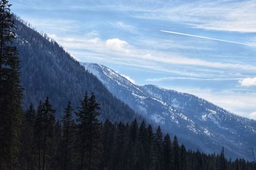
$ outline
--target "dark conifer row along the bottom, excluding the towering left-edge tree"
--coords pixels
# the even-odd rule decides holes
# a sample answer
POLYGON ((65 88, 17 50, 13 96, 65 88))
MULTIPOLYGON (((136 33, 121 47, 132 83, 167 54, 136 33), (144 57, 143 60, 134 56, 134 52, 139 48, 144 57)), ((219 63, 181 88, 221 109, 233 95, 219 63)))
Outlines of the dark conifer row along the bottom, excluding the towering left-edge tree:
POLYGON ((49 99, 25 111, 18 169, 255 169, 255 162, 186 150, 150 124, 99 122, 95 96, 84 95, 78 111, 71 103, 54 120, 49 99))

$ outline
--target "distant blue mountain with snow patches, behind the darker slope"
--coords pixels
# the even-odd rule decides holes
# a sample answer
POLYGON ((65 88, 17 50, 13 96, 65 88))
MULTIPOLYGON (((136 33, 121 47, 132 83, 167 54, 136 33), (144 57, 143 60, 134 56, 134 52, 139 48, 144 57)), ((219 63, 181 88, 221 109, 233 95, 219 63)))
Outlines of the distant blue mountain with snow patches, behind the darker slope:
POLYGON ((256 121, 234 115, 191 94, 166 90, 155 85, 135 85, 108 67, 83 63, 118 99, 159 124, 165 132, 177 134, 186 146, 206 153, 252 160, 256 148, 256 121))

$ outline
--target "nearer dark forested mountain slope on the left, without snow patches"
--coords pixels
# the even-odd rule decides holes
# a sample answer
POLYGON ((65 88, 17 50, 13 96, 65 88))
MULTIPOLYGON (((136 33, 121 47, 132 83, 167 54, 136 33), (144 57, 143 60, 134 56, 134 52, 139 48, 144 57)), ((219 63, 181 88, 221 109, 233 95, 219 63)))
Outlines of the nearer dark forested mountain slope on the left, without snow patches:
POLYGON ((80 106, 84 92, 94 93, 100 103, 100 119, 113 122, 131 122, 135 117, 127 104, 116 99, 106 87, 46 35, 42 36, 19 18, 15 18, 16 41, 19 50, 20 80, 24 87, 24 108, 37 106, 48 96, 56 116, 61 117, 68 101, 73 108, 80 106))

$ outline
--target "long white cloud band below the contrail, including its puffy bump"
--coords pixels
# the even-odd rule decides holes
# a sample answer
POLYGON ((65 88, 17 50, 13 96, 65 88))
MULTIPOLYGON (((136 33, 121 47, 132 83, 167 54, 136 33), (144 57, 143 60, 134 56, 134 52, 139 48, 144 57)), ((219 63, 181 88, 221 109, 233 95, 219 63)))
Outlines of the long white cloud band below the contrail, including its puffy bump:
MULTIPOLYGON (((100 39, 100 38, 90 38, 90 37, 56 37, 57 41, 63 46, 67 46, 71 49, 88 49, 92 52, 102 53, 109 57, 118 57, 120 59, 136 59, 138 62, 160 62, 163 64, 172 64, 177 66, 200 66, 218 69, 230 69, 230 70, 245 70, 245 71, 256 71, 256 66, 249 64, 239 64, 239 63, 228 63, 228 62, 212 62, 203 59, 191 59, 184 57, 179 53, 173 52, 159 52, 155 50, 144 50, 132 46, 127 41, 119 38, 113 39, 100 39)), ((126 62, 126 61, 125 61, 126 62)), ((125 63, 124 62, 124 63, 125 63)), ((195 67, 191 68, 195 69, 195 67)))

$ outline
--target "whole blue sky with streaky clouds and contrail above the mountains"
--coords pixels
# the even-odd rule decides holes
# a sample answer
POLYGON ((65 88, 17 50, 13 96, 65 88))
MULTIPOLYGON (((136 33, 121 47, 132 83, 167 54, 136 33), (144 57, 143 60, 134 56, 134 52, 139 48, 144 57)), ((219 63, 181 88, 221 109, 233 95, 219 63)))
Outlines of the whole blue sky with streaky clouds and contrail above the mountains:
POLYGON ((74 57, 256 119, 256 1, 10 0, 74 57))

